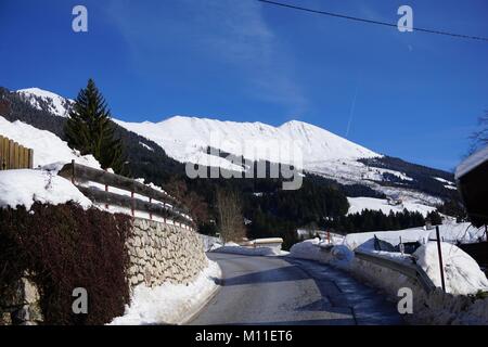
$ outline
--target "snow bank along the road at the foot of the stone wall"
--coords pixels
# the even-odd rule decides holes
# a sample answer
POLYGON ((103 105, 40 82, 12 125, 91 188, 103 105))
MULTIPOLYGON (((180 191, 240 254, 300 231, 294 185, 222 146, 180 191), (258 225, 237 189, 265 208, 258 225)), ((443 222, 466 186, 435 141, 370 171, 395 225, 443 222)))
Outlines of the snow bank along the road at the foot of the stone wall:
POLYGON ((217 262, 208 260, 208 267, 190 285, 165 283, 153 288, 138 285, 125 314, 110 325, 182 324, 215 293, 220 278, 217 262))

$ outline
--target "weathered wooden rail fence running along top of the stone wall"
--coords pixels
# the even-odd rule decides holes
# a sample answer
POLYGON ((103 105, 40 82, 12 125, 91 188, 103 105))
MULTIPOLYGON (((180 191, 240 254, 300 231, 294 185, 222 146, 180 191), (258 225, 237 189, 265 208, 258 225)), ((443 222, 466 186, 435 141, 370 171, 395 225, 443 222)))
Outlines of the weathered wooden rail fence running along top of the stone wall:
POLYGON ((195 228, 189 210, 175 197, 133 179, 79 165, 74 160, 66 164, 57 175, 72 180, 81 193, 95 204, 128 208, 132 216, 134 216, 134 211, 143 211, 149 214, 150 219, 156 215, 164 218, 165 221, 170 219, 174 222, 195 228), (90 181, 104 185, 104 190, 88 187, 86 183, 90 181), (111 187, 130 192, 130 195, 111 192, 111 187), (142 195, 147 200, 136 197, 134 194, 142 195))

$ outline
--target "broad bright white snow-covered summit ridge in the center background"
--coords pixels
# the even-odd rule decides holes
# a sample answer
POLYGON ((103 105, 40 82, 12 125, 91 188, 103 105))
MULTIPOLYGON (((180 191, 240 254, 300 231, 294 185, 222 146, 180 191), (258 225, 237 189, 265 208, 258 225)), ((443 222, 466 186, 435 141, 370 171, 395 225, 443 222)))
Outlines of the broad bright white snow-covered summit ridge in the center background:
POLYGON ((307 163, 381 156, 328 130, 297 120, 280 127, 185 116, 174 116, 156 124, 117 123, 158 143, 168 155, 180 162, 192 162, 195 155, 205 155, 203 152, 207 146, 243 155, 247 159, 285 164, 295 163, 293 153, 284 153, 293 146, 300 151, 305 167, 307 163), (280 157, 275 156, 277 153, 280 157))

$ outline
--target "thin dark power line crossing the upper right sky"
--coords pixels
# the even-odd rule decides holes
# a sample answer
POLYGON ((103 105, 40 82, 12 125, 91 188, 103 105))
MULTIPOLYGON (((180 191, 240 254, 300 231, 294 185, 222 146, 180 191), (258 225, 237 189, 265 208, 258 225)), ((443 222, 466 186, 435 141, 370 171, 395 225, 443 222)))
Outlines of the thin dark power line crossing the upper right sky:
MULTIPOLYGON (((361 17, 356 17, 356 16, 350 16, 350 15, 345 15, 345 14, 339 14, 339 13, 333 13, 333 12, 328 12, 328 11, 307 9, 307 8, 301 8, 301 7, 297 7, 297 5, 293 5, 293 4, 288 4, 288 3, 275 2, 275 1, 271 1, 271 0, 257 0, 257 1, 270 4, 270 5, 282 7, 282 8, 286 8, 286 9, 298 10, 298 11, 304 11, 304 12, 309 12, 309 13, 322 14, 322 15, 328 15, 328 16, 332 16, 332 17, 343 18, 343 20, 349 20, 349 21, 356 21, 356 22, 362 22, 362 23, 369 23, 369 24, 376 24, 376 25, 383 25, 383 26, 395 27, 395 28, 397 27, 397 24, 388 23, 388 22, 373 21, 373 20, 361 18, 361 17)), ((457 38, 462 38, 462 39, 472 39, 472 40, 488 42, 488 38, 480 37, 480 36, 471 36, 471 35, 441 31, 441 30, 436 30, 436 29, 426 29, 426 28, 412 28, 412 29, 415 31, 423 31, 423 33, 429 33, 429 34, 451 36, 451 37, 457 37, 457 38)))

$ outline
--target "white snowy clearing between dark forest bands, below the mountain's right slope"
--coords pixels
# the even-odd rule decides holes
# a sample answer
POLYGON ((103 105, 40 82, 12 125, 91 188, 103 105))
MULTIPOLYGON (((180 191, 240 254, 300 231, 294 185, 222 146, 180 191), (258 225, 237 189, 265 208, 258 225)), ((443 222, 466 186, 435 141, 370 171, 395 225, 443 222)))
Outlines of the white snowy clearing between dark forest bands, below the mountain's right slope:
POLYGON ((374 197, 348 197, 347 201, 350 205, 347 211, 348 215, 360 214, 363 209, 381 210, 385 215, 388 215, 390 211, 401 213, 403 209, 407 209, 409 211, 419 211, 425 217, 428 213, 436 210, 435 207, 413 201, 406 201, 400 205, 389 205, 387 200, 374 197))

